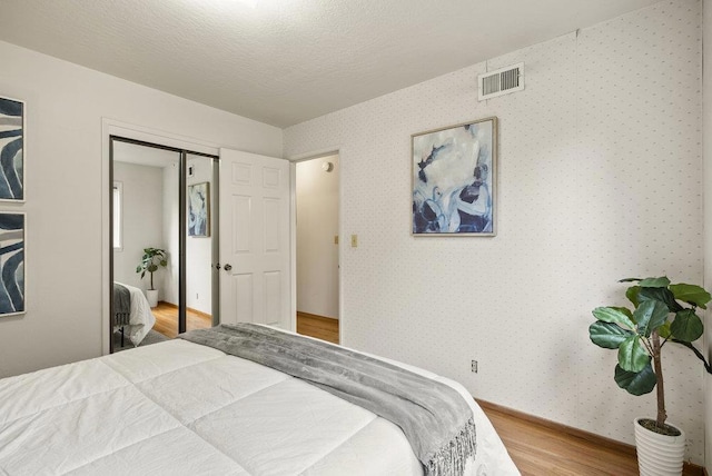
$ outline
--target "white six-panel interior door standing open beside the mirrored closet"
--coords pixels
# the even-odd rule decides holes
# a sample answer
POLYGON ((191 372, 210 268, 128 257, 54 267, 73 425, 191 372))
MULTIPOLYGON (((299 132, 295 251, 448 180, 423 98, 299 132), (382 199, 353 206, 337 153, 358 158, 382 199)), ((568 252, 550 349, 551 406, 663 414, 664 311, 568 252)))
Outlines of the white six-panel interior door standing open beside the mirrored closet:
POLYGON ((220 149, 220 321, 291 329, 289 162, 220 149))

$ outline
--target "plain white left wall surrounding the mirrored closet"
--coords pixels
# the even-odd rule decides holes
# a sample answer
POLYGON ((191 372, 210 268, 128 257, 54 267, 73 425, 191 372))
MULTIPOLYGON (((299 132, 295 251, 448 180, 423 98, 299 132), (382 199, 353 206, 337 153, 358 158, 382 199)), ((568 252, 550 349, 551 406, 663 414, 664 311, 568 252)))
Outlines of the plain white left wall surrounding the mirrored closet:
POLYGON ((27 101, 28 128, 27 202, 7 206, 28 214, 27 314, 0 319, 3 377, 96 357, 108 341, 102 118, 267 156, 281 153, 283 132, 6 42, 0 63, 0 93, 27 101))

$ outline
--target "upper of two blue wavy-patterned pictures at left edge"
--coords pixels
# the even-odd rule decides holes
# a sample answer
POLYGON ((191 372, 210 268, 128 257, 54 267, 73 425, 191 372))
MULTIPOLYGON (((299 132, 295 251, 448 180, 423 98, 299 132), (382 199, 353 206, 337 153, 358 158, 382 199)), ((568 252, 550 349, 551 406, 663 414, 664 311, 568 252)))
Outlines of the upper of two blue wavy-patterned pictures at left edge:
POLYGON ((0 98, 0 200, 24 200, 24 102, 0 98))

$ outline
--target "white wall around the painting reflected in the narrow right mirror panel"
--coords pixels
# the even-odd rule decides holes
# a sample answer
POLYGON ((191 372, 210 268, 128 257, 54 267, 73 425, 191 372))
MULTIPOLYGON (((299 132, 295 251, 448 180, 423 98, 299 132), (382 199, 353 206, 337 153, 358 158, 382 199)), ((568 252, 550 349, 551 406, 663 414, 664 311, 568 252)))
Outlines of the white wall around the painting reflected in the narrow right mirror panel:
MULTIPOLYGON (((215 224, 215 188, 212 186, 212 159, 188 156, 194 176, 188 177, 188 186, 208 182, 210 187, 210 227, 215 224)), ((186 197, 188 196, 186 191, 186 197)), ((188 206, 186 205, 186 210, 188 206)), ((186 306, 206 314, 212 314, 212 230, 209 237, 186 237, 186 306)))

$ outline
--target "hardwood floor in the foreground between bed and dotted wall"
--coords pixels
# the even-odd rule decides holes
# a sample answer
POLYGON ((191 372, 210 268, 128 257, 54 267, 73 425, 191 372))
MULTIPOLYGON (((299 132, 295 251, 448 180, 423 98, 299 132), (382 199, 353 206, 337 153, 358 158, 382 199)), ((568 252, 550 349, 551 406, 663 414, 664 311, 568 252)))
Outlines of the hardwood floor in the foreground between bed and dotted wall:
MULTIPOLYGON (((575 428, 477 401, 522 475, 637 476, 635 448, 575 428)), ((684 476, 703 469, 685 465, 684 476)))

